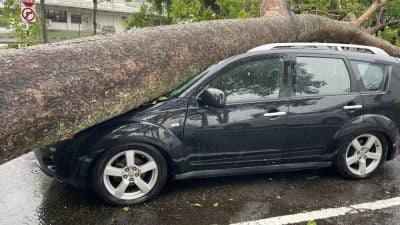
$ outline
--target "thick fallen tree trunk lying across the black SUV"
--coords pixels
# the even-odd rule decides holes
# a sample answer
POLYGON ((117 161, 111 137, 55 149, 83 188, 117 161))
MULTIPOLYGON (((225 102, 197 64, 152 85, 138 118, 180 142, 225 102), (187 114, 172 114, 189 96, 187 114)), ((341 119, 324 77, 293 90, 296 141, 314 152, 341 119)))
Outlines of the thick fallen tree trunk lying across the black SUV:
POLYGON ((352 23, 278 14, 146 28, 0 53, 0 161, 135 108, 208 65, 258 45, 358 43, 400 56, 399 48, 352 23))

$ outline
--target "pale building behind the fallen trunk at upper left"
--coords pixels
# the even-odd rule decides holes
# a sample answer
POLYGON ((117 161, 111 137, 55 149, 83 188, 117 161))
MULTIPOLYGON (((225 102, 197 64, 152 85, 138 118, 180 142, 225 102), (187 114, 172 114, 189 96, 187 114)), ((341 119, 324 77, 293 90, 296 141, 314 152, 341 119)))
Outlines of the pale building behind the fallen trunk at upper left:
MULTIPOLYGON (((0 0, 0 11, 4 2, 5 0, 0 0)), ((125 19, 131 13, 138 12, 144 0, 131 0, 130 2, 125 0, 99 0, 99 2, 96 14, 97 33, 104 34, 124 32, 125 19)), ((45 0, 45 4, 50 41, 60 41, 92 34, 92 0, 45 0)), ((36 11, 39 9, 40 2, 36 0, 36 11)), ((7 32, 6 25, 0 24, 0 43, 5 43, 5 34, 7 32)), ((9 41, 9 38, 7 41, 9 41)))

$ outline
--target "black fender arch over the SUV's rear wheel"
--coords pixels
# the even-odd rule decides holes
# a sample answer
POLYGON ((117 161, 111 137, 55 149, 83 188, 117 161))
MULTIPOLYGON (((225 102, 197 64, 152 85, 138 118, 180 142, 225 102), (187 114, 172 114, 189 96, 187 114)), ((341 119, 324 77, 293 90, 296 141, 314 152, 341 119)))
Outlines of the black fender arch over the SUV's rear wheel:
MULTIPOLYGON (((366 131, 380 132, 389 138, 388 160, 392 159, 394 154, 398 153, 400 135, 396 123, 386 116, 377 114, 366 114, 349 121, 333 137, 333 146, 337 147, 340 140, 345 137, 366 131)), ((336 148, 335 150, 337 151, 336 148)))

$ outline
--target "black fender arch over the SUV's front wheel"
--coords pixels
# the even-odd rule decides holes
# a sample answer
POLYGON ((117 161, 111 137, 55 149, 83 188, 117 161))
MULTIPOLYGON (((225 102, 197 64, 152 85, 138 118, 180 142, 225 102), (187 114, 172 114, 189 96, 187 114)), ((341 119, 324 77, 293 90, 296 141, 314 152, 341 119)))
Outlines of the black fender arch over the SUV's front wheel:
POLYGON ((96 129, 79 146, 73 160, 76 165, 70 165, 71 177, 82 182, 83 186, 88 169, 92 162, 110 147, 126 143, 142 143, 159 148, 166 156, 173 173, 182 173, 185 169, 185 151, 181 140, 171 130, 144 121, 125 121, 107 129, 96 129), (97 131, 97 132, 96 132, 97 131))

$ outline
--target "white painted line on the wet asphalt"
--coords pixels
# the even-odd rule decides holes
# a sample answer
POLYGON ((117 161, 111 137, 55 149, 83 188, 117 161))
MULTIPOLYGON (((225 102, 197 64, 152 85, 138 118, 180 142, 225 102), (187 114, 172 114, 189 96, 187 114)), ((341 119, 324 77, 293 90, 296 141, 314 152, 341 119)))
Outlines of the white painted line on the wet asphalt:
POLYGON ((327 219, 331 217, 344 216, 346 214, 356 214, 368 210, 385 209, 400 205, 400 197, 368 202, 348 207, 322 209, 312 212, 298 213, 293 215, 271 217, 267 219, 247 221, 232 225, 283 225, 292 223, 301 223, 312 220, 327 219))

